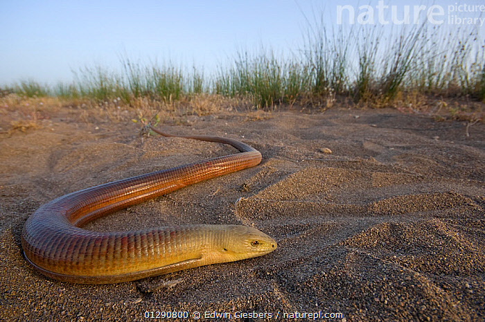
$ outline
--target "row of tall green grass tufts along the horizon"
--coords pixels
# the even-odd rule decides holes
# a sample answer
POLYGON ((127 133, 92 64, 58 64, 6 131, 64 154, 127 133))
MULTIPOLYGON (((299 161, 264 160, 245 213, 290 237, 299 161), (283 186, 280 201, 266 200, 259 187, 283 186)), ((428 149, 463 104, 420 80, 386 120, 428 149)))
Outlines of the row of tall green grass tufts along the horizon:
MULTIPOLYGON (((307 19, 308 21, 308 19, 307 19)), ((118 70, 100 65, 74 72, 74 82, 53 87, 23 80, 1 91, 26 98, 57 96, 136 106, 141 100, 190 102, 215 95, 249 100, 256 109, 310 104, 331 107, 347 96, 373 107, 398 105, 403 95, 467 96, 485 102, 485 42, 479 29, 427 22, 412 26, 328 28, 323 15, 310 23, 303 47, 292 55, 270 48, 238 51, 213 74, 173 62, 121 57, 118 70)))

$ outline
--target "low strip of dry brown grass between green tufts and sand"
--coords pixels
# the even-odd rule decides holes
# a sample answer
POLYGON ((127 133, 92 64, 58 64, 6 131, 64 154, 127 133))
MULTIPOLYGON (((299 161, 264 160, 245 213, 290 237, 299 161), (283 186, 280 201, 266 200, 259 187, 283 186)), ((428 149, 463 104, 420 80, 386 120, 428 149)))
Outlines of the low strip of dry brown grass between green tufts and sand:
MULTIPOLYGON (((294 109, 303 113, 319 113, 329 108, 380 108, 393 107, 406 114, 422 114, 436 121, 461 120, 468 127, 485 121, 485 104, 466 97, 441 98, 420 91, 398 91, 392 100, 353 102, 349 96, 302 96, 295 105, 279 105, 279 109, 294 109)), ((275 108, 276 109, 276 108, 275 108)), ((149 122, 191 124, 197 117, 240 113, 246 120, 273 118, 271 109, 258 109, 249 99, 198 93, 179 100, 159 100, 139 97, 126 103, 92 98, 28 98, 17 94, 0 97, 0 133, 8 136, 15 132, 28 132, 48 125, 52 118, 69 118, 82 123, 149 122)), ((467 129, 468 129, 467 127, 467 129)))

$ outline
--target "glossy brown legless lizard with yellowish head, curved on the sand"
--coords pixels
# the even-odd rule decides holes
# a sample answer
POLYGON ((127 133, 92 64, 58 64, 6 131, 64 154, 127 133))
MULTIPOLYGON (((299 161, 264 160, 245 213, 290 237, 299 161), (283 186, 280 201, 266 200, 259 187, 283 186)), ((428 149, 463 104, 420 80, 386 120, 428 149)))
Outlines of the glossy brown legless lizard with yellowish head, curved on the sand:
POLYGON ((30 215, 22 231, 21 244, 28 262, 50 278, 105 284, 274 251, 276 242, 249 226, 187 225, 116 232, 80 228, 127 206, 261 162, 260 152, 239 141, 216 136, 178 137, 229 144, 241 153, 110 182, 44 204, 30 215))

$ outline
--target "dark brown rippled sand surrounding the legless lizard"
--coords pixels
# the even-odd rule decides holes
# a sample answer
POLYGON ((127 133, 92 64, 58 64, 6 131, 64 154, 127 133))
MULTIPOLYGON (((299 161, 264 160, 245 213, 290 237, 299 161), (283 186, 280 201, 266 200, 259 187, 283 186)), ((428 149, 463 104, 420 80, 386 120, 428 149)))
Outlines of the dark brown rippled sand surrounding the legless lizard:
POLYGON ((1 321, 147 321, 165 312, 189 319, 199 312, 206 321, 205 314, 212 321, 485 319, 483 123, 470 126, 467 137, 465 122, 335 108, 191 116, 159 127, 238 138, 260 150, 263 161, 86 228, 246 224, 279 248, 132 283, 45 278, 20 246, 21 228, 37 207, 89 186, 235 151, 142 138, 139 123, 86 123, 60 113, 39 128, 0 137, 1 321))

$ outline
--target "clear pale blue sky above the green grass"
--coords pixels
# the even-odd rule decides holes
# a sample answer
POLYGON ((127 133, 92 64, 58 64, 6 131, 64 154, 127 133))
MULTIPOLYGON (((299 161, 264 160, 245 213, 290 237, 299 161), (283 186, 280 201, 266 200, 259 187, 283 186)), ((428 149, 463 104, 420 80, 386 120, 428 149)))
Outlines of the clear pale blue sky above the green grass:
MULTIPOLYGON (((454 12, 472 17, 465 7, 457 6, 482 4, 479 0, 438 2, 446 19, 454 12)), ((70 82, 73 71, 85 66, 119 69, 120 57, 195 65, 211 72, 240 50, 264 46, 276 52, 298 51, 308 21, 323 12, 325 23, 336 26, 337 6, 351 6, 355 22, 363 3, 372 7, 374 22, 380 24, 377 0, 0 0, 0 86, 21 80, 70 82)), ((396 6, 398 15, 403 15, 405 5, 425 1, 384 3, 396 6)), ((391 10, 385 15, 390 17, 391 10)), ((342 23, 348 24, 348 11, 344 17, 342 23)))

